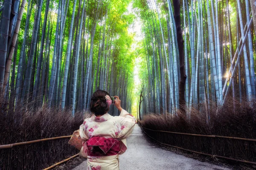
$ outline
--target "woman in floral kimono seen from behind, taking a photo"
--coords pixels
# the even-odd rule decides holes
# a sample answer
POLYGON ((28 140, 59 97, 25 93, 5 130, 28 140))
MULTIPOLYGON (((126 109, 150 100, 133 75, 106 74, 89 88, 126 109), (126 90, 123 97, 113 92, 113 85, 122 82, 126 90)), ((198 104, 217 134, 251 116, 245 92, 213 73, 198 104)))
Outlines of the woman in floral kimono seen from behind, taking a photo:
POLYGON ((131 135, 136 119, 122 109, 119 97, 115 98, 120 116, 108 114, 110 95, 97 90, 90 102, 93 115, 80 126, 83 147, 79 155, 87 156, 87 170, 119 170, 119 155, 127 149, 126 138, 131 135))

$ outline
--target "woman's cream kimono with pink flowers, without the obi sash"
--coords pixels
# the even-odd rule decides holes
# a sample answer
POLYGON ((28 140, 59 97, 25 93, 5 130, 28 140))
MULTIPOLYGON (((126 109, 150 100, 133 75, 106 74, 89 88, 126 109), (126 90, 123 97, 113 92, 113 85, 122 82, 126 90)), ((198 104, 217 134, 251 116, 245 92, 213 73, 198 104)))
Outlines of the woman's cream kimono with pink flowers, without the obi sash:
POLYGON ((113 166, 113 170, 117 170, 117 167, 119 169, 118 155, 126 151, 126 138, 131 135, 135 123, 136 119, 134 116, 125 110, 121 111, 120 116, 111 116, 110 114, 105 113, 100 117, 96 117, 93 114, 90 118, 85 119, 79 129, 81 139, 83 139, 83 147, 81 148, 79 155, 87 157, 87 169, 98 170, 99 166, 101 166, 100 170, 105 170, 106 167, 110 168, 109 166, 113 166), (86 141, 94 136, 120 139, 119 154, 115 156, 101 157, 88 156, 86 141))

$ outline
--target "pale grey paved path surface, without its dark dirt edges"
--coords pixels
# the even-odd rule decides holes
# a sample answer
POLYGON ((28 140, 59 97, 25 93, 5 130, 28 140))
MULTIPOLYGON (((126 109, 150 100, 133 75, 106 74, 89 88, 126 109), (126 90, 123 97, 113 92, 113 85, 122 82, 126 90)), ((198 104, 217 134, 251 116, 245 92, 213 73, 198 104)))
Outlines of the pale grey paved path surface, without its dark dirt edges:
MULTIPOLYGON (((127 151, 119 157, 120 170, 229 170, 155 147, 137 124, 127 144, 127 151)), ((84 161, 73 170, 85 170, 86 166, 84 161)))

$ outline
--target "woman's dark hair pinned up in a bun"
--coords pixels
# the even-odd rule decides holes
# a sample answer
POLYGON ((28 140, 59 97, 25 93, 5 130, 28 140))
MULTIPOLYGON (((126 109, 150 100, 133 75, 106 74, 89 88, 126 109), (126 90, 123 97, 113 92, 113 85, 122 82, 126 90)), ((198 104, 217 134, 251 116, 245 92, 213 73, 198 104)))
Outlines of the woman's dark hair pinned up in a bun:
POLYGON ((109 106, 105 96, 108 95, 108 92, 97 90, 93 93, 90 102, 90 111, 94 113, 96 116, 103 115, 109 111, 109 106))

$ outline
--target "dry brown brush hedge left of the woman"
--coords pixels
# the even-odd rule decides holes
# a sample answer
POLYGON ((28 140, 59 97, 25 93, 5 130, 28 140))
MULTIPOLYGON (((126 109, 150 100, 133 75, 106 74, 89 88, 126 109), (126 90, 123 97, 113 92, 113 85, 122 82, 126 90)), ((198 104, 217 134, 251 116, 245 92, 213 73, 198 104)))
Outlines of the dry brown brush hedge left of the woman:
MULTIPOLYGON (((0 105, 0 144, 72 135, 88 114, 61 111, 44 105, 41 108, 16 108, 0 105)), ((0 170, 38 170, 79 152, 67 144, 69 138, 14 146, 0 150, 0 170)))

